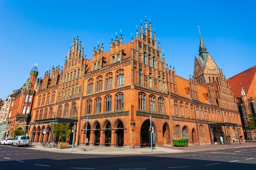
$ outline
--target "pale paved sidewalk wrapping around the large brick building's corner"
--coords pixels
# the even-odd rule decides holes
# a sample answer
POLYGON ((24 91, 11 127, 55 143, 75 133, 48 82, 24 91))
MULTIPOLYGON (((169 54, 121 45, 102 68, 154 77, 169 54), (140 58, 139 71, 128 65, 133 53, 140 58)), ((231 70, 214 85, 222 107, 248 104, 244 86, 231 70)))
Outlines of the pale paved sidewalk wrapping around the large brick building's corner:
POLYGON ((76 154, 104 154, 104 155, 138 155, 138 154, 167 154, 167 153, 180 153, 180 152, 193 152, 193 151, 206 151, 216 149, 230 149, 230 148, 243 148, 243 147, 256 147, 256 142, 241 142, 229 144, 216 144, 216 145, 198 145, 188 147, 155 147, 153 152, 151 148, 139 148, 139 149, 127 149, 127 148, 114 148, 114 147, 97 147, 97 146, 73 146, 69 145, 68 148, 44 148, 41 147, 41 143, 32 143, 32 146, 26 147, 28 149, 59 152, 59 153, 76 153, 76 154))

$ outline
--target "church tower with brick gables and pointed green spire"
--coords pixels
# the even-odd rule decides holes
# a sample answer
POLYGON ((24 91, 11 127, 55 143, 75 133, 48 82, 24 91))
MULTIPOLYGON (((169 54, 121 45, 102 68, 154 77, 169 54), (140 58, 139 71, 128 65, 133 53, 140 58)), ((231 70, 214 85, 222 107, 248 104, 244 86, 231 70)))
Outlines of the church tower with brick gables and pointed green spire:
POLYGON ((207 52, 200 33, 199 56, 195 57, 194 78, 197 84, 204 84, 217 81, 218 76, 219 69, 212 56, 207 52))

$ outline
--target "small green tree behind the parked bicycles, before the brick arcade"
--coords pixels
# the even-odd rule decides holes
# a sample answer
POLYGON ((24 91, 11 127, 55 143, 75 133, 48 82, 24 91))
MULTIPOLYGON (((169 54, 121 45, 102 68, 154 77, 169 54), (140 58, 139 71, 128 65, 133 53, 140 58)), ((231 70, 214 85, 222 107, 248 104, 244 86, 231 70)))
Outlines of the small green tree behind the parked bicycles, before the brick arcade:
MULTIPOLYGON (((54 124, 53 124, 54 125, 54 124)), ((65 142, 67 137, 71 133, 70 124, 69 123, 58 123, 54 128, 53 132, 56 134, 56 136, 60 137, 60 141, 65 142)))

